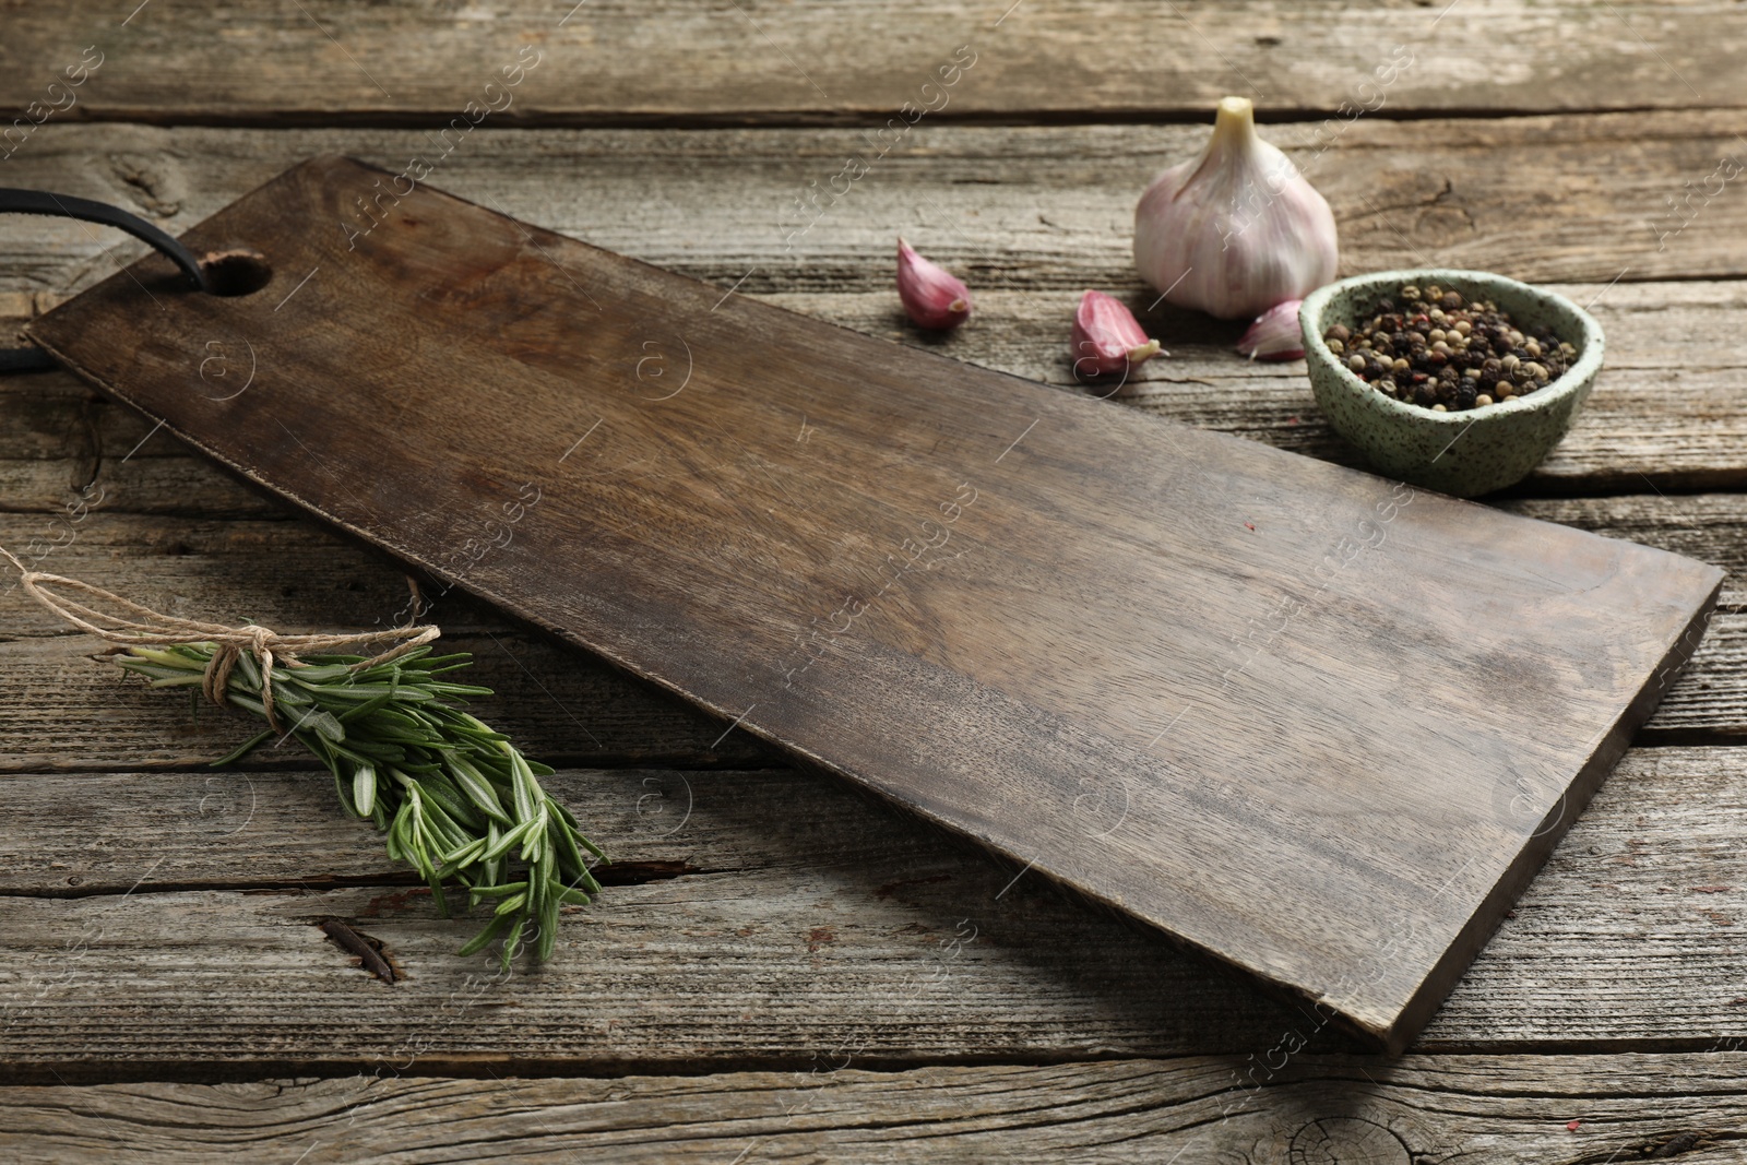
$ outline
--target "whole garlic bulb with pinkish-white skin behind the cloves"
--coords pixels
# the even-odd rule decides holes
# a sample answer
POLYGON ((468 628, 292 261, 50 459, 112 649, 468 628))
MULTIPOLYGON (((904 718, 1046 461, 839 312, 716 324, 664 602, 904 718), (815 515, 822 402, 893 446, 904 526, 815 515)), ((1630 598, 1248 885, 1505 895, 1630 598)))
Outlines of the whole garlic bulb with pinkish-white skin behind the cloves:
POLYGON ((1221 320, 1303 299, 1335 278, 1335 213, 1225 98, 1200 157, 1153 180, 1134 210, 1134 265, 1179 307, 1221 320))

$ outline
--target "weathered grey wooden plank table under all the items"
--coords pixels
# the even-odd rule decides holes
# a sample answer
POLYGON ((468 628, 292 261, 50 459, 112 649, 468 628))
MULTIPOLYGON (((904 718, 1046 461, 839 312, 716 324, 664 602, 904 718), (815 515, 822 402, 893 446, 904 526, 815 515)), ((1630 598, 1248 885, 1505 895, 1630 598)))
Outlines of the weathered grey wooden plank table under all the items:
MULTIPOLYGON (((178 232, 313 154, 398 171, 447 145, 430 180, 463 197, 1069 393, 1080 290, 1151 302, 1129 257, 1141 189, 1197 148, 1221 94, 1253 96, 1335 206, 1343 272, 1501 271, 1607 328, 1588 412, 1494 503, 1733 576, 1689 674, 1392 1062, 451 597, 444 643, 498 690, 480 714, 559 765, 556 793, 617 859, 563 957, 503 976, 454 957, 463 926, 304 758, 208 770, 239 718, 124 683, 9 587, 0 1156, 1747 1162, 1747 14, 129 9, 9 9, 0 105, 73 103, 9 138, 0 182, 178 232), (1413 65, 1380 87, 1398 44, 1413 65), (942 107, 924 86, 961 45, 975 63, 942 107), (514 103, 461 133, 468 101, 501 103, 486 82, 535 54, 514 103), (936 108, 908 124, 905 101, 936 108), (880 126, 884 155, 833 204, 880 126), (903 321, 898 232, 970 279, 970 327, 903 321), (358 969, 316 927, 334 917, 407 978, 358 969)), ((0 220, 7 330, 138 250, 0 220)), ((1143 320, 1172 356, 1106 407, 1354 461, 1303 365, 1242 362, 1240 325, 1143 320)), ((400 618, 391 564, 72 377, 0 381, 0 543, 45 552, 42 569, 281 631, 400 618)))

